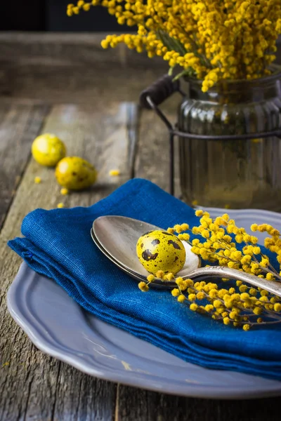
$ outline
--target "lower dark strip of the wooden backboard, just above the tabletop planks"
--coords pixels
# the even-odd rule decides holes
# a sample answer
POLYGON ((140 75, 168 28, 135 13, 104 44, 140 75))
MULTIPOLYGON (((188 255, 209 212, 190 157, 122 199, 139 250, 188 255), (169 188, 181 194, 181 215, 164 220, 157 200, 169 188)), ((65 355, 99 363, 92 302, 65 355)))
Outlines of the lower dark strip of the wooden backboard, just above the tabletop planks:
MULTIPOLYGON (((105 53, 110 55, 110 51, 105 53)), ((111 100, 137 102, 139 93, 162 76, 166 69, 102 66, 100 62, 94 67, 12 63, 1 65, 0 96, 44 100, 51 104, 98 103, 105 96, 111 100)))

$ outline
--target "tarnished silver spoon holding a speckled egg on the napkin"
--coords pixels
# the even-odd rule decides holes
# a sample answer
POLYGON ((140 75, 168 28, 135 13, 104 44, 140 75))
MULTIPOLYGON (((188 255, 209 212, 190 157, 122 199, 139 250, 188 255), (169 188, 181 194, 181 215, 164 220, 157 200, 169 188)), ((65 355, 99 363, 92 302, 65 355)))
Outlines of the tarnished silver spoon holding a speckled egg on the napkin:
MULTIPOLYGON (((97 246, 110 258, 120 269, 135 279, 145 281, 148 272, 145 270, 136 255, 136 243, 141 235, 154 229, 162 229, 148 222, 126 218, 124 216, 101 216, 93 222, 93 235, 97 246)), ((200 268, 200 259, 191 252, 191 246, 185 243, 187 259, 185 266, 177 276, 183 279, 198 278, 230 278, 249 283, 250 285, 263 288, 268 292, 281 297, 281 283, 267 281, 258 276, 240 272, 223 266, 211 266, 200 268)), ((174 288, 174 281, 162 281, 155 279, 151 286, 174 288)))

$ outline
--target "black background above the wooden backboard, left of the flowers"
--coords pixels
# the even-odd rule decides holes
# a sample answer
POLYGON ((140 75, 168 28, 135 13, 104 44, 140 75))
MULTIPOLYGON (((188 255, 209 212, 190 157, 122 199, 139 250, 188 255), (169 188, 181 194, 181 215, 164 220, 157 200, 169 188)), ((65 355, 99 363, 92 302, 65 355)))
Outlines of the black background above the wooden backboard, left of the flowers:
POLYGON ((120 27, 107 9, 95 6, 89 12, 69 18, 68 3, 77 0, 2 0, 1 31, 58 31, 58 32, 129 32, 133 28, 120 27))

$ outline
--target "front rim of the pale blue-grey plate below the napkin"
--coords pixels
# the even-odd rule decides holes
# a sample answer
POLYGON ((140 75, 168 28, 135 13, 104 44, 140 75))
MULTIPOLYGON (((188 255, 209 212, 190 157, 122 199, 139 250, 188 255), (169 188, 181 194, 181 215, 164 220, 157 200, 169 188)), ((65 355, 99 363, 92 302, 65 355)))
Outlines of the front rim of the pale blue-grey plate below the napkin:
MULTIPOLYGON (((134 373, 133 371, 130 372, 130 371, 124 370, 124 372, 122 372, 122 370, 120 369, 116 373, 113 373, 114 370, 108 367, 106 367, 105 370, 99 370, 99 369, 96 369, 94 366, 90 366, 89 362, 87 361, 84 361, 83 363, 79 359, 75 359, 74 354, 71 354, 71 353, 67 354, 67 352, 62 351, 61 349, 58 349, 58 347, 56 348, 52 343, 48 342, 48 340, 46 340, 46 338, 44 338, 43 335, 41 335, 40 331, 37 329, 37 326, 32 325, 32 323, 30 323, 30 321, 28 321, 28 319, 26 318, 25 314, 22 314, 22 312, 20 311, 16 302, 15 291, 18 290, 18 288, 20 288, 20 285, 23 282, 21 280, 21 276, 22 276, 22 273, 24 273, 26 270, 36 274, 36 272, 34 272, 33 269, 31 269, 30 267, 28 267, 25 262, 22 262, 22 264, 20 265, 18 274, 17 276, 15 276, 15 279, 8 290, 8 295, 7 295, 8 310, 11 313, 11 316, 13 317, 13 319, 16 321, 16 323, 18 323, 18 325, 22 328, 22 330, 24 330, 25 333, 27 333, 27 336, 34 343, 34 345, 45 354, 51 355, 60 361, 70 364, 70 366, 74 366, 74 368, 77 368, 78 370, 81 370, 82 372, 86 374, 93 375, 102 380, 107 380, 111 382, 120 382, 124 385, 129 385, 132 387, 141 387, 143 389, 148 389, 154 392, 174 394, 178 396, 186 396, 186 397, 194 397, 194 398, 196 397, 196 398, 202 398, 202 399, 238 399, 238 400, 258 399, 258 398, 266 398, 266 397, 281 395, 281 382, 279 382, 278 380, 272 380, 273 387, 269 387, 266 390, 266 392, 264 391, 264 389, 261 388, 258 390, 255 389, 254 391, 247 392, 247 393, 243 391, 242 392, 243 394, 241 396, 241 392, 240 392, 241 387, 237 387, 237 388, 230 387, 230 389, 228 389, 226 387, 222 388, 218 386, 204 386, 204 385, 200 386, 192 382, 190 382, 190 384, 186 382, 185 384, 183 382, 176 382, 176 381, 174 383, 171 382, 171 386, 174 385, 174 388, 171 388, 169 386, 169 382, 166 382, 165 387, 163 387, 163 381, 165 380, 164 377, 160 377, 160 379, 155 378, 155 380, 152 382, 151 378, 153 375, 150 375, 150 378, 148 378, 147 375, 143 375, 143 376, 138 376, 137 381, 133 381, 133 373, 134 373), (132 374, 129 375, 129 373, 132 373, 132 374)), ((43 276, 43 275, 39 274, 39 276, 43 276)), ((46 276, 43 276, 43 277, 46 277, 46 276)), ((65 291, 65 294, 67 294, 66 291, 65 291)), ((77 305, 76 302, 74 302, 74 304, 77 305)), ((79 305, 77 306, 79 307, 79 305)), ((192 364, 192 365, 196 366, 195 364, 192 364)), ((214 375, 214 373, 220 371, 220 370, 212 370, 208 368, 205 368, 205 369, 209 370, 210 375, 214 375)), ((235 375, 236 373, 235 371, 230 371, 230 370, 225 370, 225 371, 228 371, 228 373, 232 373, 233 375, 235 375)), ((246 373, 243 373, 243 375, 247 376, 246 373)), ((251 377, 253 376, 251 375, 251 377)), ((256 376, 256 377, 257 379, 261 379, 261 378, 263 379, 263 377, 260 377, 260 376, 256 376)))

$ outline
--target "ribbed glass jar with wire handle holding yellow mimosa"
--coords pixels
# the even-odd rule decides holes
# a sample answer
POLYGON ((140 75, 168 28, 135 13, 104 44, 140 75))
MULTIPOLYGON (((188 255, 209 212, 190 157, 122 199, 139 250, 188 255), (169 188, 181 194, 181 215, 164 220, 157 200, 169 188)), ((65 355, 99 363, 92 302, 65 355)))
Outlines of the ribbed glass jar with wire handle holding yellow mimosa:
MULTIPOLYGON (((180 131, 197 135, 265 133, 281 127, 281 72, 251 81, 223 81, 178 109, 180 131)), ((183 199, 193 206, 281 211, 281 140, 179 138, 183 199)))

